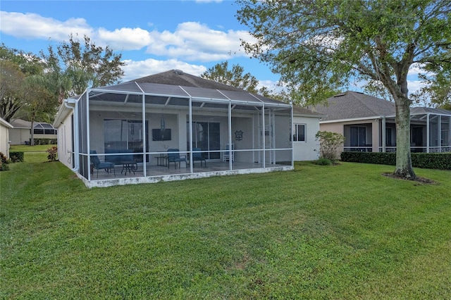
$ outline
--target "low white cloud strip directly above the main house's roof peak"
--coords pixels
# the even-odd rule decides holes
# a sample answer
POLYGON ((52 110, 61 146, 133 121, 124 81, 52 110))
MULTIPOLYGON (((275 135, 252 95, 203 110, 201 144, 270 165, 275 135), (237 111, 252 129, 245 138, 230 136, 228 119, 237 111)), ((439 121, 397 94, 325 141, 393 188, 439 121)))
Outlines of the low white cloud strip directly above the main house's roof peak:
POLYGON ((204 65, 192 65, 184 61, 178 61, 177 59, 159 61, 149 58, 145 61, 125 60, 123 62, 125 63, 123 66, 125 76, 122 81, 124 82, 173 69, 183 70, 183 72, 191 75, 201 75, 206 71, 204 65))

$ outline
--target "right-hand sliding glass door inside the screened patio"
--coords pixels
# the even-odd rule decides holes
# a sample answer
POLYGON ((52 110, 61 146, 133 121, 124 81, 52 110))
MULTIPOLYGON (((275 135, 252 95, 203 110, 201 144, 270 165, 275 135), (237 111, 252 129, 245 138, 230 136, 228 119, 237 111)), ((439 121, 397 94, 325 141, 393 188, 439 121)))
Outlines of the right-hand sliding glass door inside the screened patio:
POLYGON ((192 138, 190 139, 190 123, 187 123, 187 149, 200 148, 206 159, 219 159, 221 154, 218 152, 221 146, 221 124, 218 122, 192 122, 192 138))

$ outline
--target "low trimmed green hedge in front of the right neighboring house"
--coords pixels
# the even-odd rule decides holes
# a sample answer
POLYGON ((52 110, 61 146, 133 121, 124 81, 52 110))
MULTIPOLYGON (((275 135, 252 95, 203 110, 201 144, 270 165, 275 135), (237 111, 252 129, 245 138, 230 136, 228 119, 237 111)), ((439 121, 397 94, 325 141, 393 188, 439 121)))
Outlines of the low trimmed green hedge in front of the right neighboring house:
MULTIPOLYGON (((376 163, 396 165, 396 153, 386 152, 342 152, 342 161, 352 163, 376 163)), ((451 170, 451 153, 412 153, 414 168, 451 170)))

